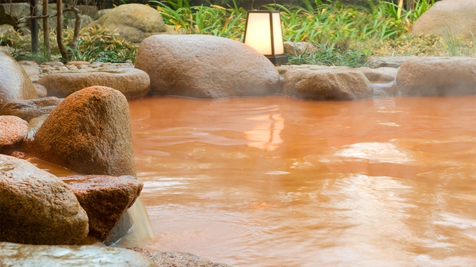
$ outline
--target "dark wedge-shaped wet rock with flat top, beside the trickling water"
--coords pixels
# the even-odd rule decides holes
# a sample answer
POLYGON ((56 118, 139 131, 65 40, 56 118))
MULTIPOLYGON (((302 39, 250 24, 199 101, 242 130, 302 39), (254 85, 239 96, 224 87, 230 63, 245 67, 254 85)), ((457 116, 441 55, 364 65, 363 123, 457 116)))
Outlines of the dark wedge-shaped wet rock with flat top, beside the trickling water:
POLYGON ((61 178, 89 218, 89 235, 105 241, 143 188, 134 176, 66 176, 61 178))

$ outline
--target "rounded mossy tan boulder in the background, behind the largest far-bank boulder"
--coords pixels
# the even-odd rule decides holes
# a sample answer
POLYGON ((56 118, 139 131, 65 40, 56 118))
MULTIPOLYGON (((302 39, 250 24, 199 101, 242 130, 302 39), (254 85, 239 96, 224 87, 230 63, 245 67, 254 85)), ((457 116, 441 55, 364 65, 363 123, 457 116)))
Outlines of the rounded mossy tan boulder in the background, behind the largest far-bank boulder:
POLYGON ((137 44, 149 36, 166 31, 160 13, 150 6, 138 3, 117 6, 88 25, 90 26, 104 26, 119 33, 130 43, 137 44))

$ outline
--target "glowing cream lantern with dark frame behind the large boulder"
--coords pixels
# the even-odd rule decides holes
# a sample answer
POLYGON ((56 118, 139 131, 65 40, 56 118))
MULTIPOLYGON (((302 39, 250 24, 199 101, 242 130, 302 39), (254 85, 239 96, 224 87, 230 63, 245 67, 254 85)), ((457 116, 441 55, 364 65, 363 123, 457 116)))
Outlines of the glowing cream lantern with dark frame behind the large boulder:
POLYGON ((287 62, 282 43, 279 11, 248 11, 245 28, 245 44, 264 54, 273 64, 287 62))

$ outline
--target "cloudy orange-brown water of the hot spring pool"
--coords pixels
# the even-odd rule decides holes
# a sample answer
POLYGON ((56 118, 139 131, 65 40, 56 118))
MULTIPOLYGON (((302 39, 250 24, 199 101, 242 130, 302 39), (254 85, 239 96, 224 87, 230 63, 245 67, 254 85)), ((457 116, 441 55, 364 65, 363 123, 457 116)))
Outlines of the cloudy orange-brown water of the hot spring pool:
POLYGON ((236 266, 476 266, 476 96, 129 104, 150 248, 236 266))

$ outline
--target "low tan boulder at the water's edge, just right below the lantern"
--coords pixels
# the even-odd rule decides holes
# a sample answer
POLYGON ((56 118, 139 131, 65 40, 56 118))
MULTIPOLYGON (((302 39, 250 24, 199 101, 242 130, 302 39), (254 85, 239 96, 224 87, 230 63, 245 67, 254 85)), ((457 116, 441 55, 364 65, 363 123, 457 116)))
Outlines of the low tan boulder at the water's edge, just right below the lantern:
POLYGON ((371 98, 373 87, 361 71, 294 68, 284 75, 284 94, 306 100, 371 98))

